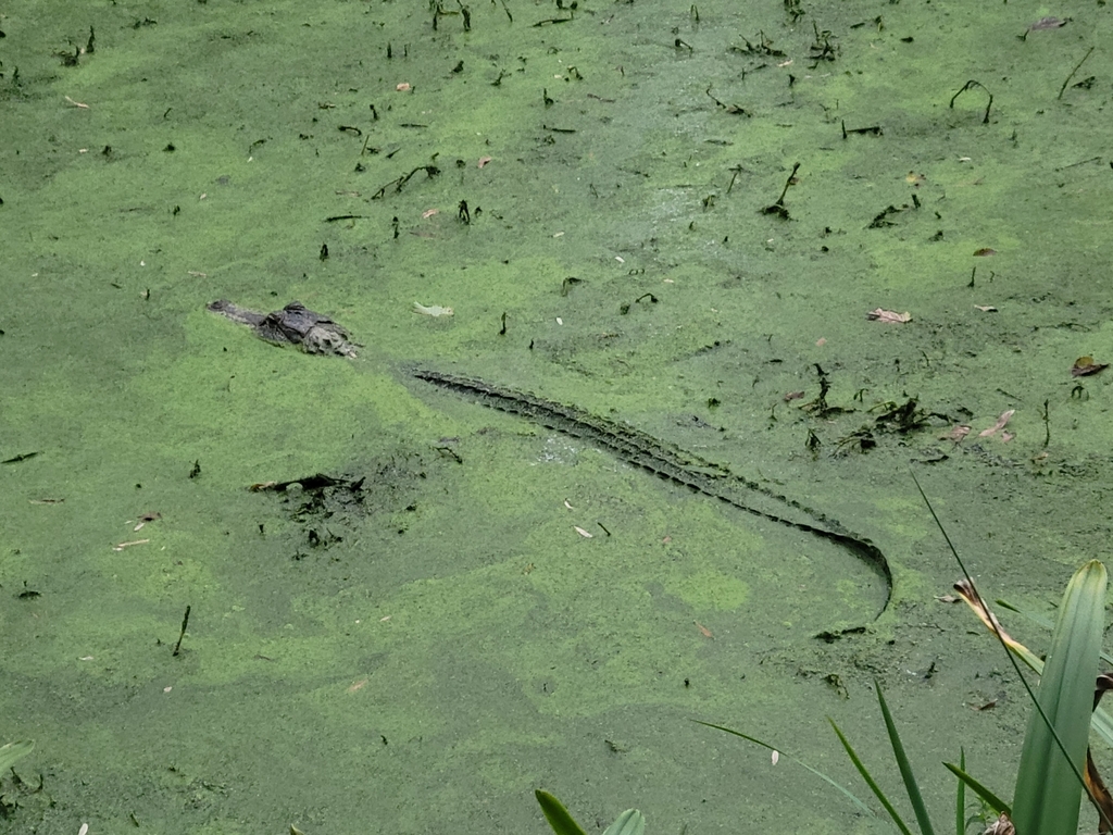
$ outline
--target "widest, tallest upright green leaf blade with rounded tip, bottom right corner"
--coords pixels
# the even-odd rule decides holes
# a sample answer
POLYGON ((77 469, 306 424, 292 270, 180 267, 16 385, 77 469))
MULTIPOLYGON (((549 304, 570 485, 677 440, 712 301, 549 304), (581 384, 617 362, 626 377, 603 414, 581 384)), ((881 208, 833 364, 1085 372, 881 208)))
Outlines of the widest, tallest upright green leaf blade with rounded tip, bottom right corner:
POLYGON ((1085 767, 1102 649, 1105 588, 1105 567, 1091 560, 1071 578, 1063 596, 1036 694, 1047 721, 1038 711, 1032 713, 1021 750, 1013 794, 1013 824, 1018 833, 1077 832, 1083 789, 1080 775, 1085 767))

